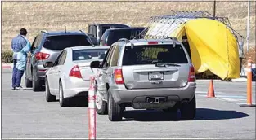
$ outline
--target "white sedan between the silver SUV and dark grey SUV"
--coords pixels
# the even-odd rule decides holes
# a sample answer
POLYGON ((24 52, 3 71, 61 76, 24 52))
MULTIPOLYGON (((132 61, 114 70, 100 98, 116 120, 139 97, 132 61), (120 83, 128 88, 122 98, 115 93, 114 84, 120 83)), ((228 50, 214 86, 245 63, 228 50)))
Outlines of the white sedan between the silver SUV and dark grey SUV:
POLYGON ((90 68, 92 61, 102 61, 110 46, 75 46, 61 51, 56 61, 47 62, 50 67, 45 77, 45 96, 47 102, 59 98, 61 107, 69 105, 69 98, 88 96, 90 68))

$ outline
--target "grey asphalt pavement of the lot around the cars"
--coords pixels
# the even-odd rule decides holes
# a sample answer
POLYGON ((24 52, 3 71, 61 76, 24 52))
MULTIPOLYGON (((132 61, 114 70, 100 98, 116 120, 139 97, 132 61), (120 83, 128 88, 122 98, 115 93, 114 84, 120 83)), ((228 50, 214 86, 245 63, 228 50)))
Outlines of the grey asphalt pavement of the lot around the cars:
MULTIPOLYGON (((209 81, 198 81, 195 120, 178 120, 159 111, 128 108, 124 121, 97 115, 98 138, 236 138, 255 139, 255 107, 246 103, 246 82, 213 81, 215 96, 206 98, 209 81)), ((22 81, 24 85, 24 79, 22 81)), ((255 82, 253 102, 255 103, 255 82)), ((47 103, 44 92, 11 90, 11 70, 2 70, 2 138, 88 139, 86 98, 73 107, 47 103)))

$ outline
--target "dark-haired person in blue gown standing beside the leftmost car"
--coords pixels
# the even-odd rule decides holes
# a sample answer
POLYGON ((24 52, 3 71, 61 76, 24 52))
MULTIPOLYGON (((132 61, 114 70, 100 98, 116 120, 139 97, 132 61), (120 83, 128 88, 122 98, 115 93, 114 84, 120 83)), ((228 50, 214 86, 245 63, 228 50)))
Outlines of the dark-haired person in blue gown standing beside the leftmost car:
POLYGON ((12 70, 12 90, 24 90, 20 85, 21 75, 20 71, 16 68, 17 63, 17 54, 22 50, 26 45, 27 41, 25 36, 27 35, 27 30, 25 28, 20 29, 20 34, 17 37, 14 37, 11 41, 11 50, 13 51, 13 70, 12 70))

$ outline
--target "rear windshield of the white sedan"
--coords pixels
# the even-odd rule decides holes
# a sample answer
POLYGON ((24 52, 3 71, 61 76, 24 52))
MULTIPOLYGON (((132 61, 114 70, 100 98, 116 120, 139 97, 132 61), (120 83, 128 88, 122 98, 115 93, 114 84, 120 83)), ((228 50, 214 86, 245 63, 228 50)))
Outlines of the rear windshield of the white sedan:
POLYGON ((73 50, 73 61, 87 59, 104 59, 107 49, 73 50))

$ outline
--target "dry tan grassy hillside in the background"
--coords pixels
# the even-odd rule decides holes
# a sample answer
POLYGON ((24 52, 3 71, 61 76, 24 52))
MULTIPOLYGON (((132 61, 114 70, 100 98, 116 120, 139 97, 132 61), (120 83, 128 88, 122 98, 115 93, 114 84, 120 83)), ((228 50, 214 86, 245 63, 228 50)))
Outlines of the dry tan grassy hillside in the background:
MULTIPOLYGON (((32 42, 41 29, 83 29, 89 23, 123 23, 146 26, 153 15, 171 10, 213 13, 213 2, 2 2, 2 49, 9 49, 11 37, 27 28, 32 42)), ((251 2, 251 44, 255 44, 255 2, 251 2)), ((231 26, 246 35, 247 2, 217 2, 218 16, 227 16, 231 26)))

